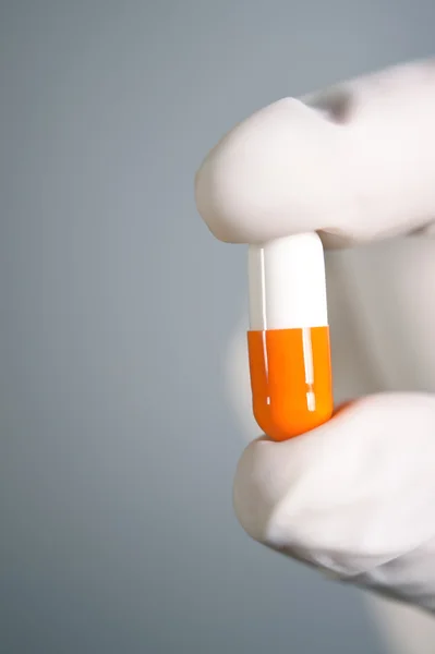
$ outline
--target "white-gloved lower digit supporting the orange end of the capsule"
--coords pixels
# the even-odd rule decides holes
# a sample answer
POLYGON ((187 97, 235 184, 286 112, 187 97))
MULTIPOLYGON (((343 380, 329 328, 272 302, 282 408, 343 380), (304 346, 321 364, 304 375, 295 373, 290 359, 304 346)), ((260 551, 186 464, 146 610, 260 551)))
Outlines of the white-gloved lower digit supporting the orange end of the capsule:
POLYGON ((233 500, 256 541, 341 581, 435 610, 435 398, 385 393, 239 462, 233 500))

